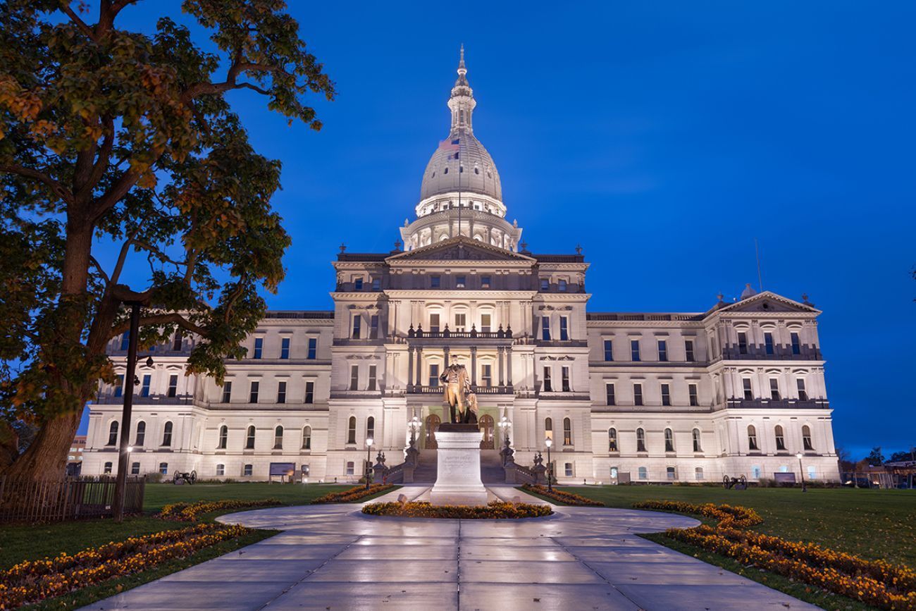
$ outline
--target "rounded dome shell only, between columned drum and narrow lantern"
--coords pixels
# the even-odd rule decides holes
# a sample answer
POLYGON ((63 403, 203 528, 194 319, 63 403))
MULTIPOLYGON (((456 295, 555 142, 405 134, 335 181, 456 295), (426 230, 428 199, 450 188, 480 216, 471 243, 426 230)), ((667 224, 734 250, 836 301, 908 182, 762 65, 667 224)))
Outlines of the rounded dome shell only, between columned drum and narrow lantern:
POLYGON ((484 145, 466 129, 454 132, 445 142, 451 143, 455 139, 459 141, 458 151, 439 147, 432 154, 423 172, 420 200, 462 191, 488 195, 502 202, 503 189, 499 183, 499 172, 484 145))

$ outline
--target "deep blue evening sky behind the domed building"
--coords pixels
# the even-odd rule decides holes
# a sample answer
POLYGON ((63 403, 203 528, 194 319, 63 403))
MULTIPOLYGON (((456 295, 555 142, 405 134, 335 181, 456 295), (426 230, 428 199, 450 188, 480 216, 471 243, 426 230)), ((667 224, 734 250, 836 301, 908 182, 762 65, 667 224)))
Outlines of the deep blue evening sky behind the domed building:
MULTIPOLYGON (((320 133, 231 98, 283 162, 293 245, 271 308, 330 309, 342 242, 393 248, 463 42, 507 216, 534 252, 583 245, 590 311, 704 311, 756 286, 756 237, 764 288, 823 309, 837 443, 916 443, 916 5, 290 4, 339 96, 314 100, 320 133)), ((179 6, 122 25, 190 24, 179 6)))

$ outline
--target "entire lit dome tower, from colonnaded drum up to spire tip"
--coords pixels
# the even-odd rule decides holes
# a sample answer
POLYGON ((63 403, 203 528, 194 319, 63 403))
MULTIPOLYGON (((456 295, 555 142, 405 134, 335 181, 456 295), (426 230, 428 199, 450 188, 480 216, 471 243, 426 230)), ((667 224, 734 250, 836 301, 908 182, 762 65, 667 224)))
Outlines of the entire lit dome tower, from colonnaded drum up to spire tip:
POLYGON ((464 235, 489 245, 518 250, 521 229, 506 220, 506 205, 496 164, 474 137, 474 91, 467 82, 464 48, 448 107, 452 125, 432 153, 420 184, 417 220, 405 221, 406 250, 464 235))

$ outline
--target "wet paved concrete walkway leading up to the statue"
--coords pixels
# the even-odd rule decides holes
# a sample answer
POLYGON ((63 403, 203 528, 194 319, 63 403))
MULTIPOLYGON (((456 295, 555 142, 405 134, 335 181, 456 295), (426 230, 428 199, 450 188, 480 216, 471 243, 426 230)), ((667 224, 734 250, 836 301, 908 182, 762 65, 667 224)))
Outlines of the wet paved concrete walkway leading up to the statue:
MULTIPOLYGON (((510 486, 488 486, 511 500, 510 486)), ((398 494, 419 497, 425 486, 398 494)), ((595 507, 550 518, 373 518, 358 505, 224 516, 276 537, 87 609, 813 609, 766 586, 636 536, 697 521, 595 507)))

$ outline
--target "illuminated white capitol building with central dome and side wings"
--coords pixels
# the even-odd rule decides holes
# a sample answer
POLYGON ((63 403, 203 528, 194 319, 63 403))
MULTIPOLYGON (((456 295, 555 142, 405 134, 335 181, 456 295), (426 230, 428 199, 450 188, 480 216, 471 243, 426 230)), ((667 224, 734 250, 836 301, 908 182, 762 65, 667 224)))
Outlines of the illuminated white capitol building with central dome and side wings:
MULTIPOLYGON (((820 311, 750 285, 698 311, 590 311, 581 249, 530 252, 508 220, 475 105, 462 57, 415 218, 391 252, 342 247, 332 311, 267 312, 223 386, 185 376, 194 337, 141 353, 131 473, 356 481, 367 439, 373 459, 404 460, 411 421, 429 467, 448 421, 440 375, 457 362, 484 464, 499 464, 507 430, 520 465, 546 460, 551 439, 560 483, 837 479, 820 311)), ((90 406, 83 475, 117 467, 126 348, 109 345, 122 384, 90 406)))

